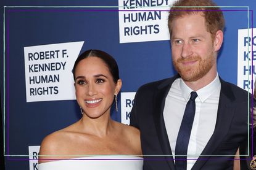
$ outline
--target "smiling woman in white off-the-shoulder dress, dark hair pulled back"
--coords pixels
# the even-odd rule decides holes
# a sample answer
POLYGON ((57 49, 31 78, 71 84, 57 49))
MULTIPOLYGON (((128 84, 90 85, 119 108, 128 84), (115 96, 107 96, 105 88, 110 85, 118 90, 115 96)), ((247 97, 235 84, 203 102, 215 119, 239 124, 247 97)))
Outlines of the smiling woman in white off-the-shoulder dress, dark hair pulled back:
POLYGON ((139 130, 110 118, 122 87, 114 58, 101 50, 88 50, 75 61, 73 77, 83 116, 44 138, 39 169, 142 169, 142 158, 131 156, 142 155, 139 130))

